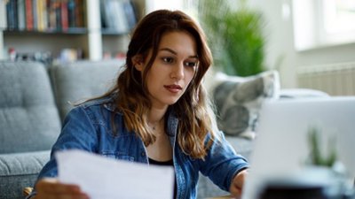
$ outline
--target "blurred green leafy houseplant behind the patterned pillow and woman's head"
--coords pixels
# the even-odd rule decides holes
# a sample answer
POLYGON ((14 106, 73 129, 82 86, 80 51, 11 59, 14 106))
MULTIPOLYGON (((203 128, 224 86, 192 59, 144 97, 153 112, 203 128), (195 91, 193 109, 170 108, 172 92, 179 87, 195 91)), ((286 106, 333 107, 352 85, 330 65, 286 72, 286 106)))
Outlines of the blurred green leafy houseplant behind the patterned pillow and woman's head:
POLYGON ((260 12, 239 1, 200 0, 199 19, 206 30, 215 64, 227 74, 248 76, 263 72, 264 20, 260 12))

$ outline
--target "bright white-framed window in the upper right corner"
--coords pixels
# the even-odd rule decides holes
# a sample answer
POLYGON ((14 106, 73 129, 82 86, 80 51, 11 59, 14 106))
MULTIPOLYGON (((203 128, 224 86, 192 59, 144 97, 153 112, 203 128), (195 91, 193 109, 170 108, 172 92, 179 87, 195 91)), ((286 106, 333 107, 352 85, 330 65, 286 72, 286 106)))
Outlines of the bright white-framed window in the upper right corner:
POLYGON ((354 0, 293 0, 296 50, 355 42, 354 0))

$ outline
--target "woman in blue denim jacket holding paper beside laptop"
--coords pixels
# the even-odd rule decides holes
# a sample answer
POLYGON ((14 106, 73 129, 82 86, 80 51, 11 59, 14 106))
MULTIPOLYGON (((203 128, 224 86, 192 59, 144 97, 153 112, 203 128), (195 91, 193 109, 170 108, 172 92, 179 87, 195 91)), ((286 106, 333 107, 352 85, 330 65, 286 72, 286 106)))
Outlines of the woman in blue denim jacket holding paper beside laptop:
POLYGON ((55 180, 53 153, 63 149, 173 166, 174 198, 196 197, 199 172, 241 195, 248 163, 216 130, 201 85, 211 61, 204 34, 185 13, 148 14, 132 34, 114 88, 68 113, 32 195, 88 198, 78 186, 55 180))

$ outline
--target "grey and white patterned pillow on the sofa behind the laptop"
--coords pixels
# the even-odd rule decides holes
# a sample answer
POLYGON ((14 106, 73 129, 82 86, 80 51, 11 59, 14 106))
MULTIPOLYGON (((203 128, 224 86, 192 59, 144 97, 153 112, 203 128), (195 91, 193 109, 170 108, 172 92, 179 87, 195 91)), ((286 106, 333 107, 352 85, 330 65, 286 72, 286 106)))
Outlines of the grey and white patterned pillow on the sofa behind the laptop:
POLYGON ((215 80, 211 93, 219 129, 228 135, 253 139, 262 103, 279 98, 279 73, 267 71, 244 78, 217 73, 215 80))

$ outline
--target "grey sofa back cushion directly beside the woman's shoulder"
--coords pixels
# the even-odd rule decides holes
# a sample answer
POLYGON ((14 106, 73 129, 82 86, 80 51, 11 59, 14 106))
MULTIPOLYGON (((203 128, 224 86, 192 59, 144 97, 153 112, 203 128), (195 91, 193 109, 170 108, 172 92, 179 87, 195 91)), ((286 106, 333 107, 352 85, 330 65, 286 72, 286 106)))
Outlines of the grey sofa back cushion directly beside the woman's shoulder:
POLYGON ((73 108, 73 103, 103 95, 113 86, 122 65, 124 60, 110 59, 51 66, 51 80, 60 118, 65 118, 67 112, 73 108))

